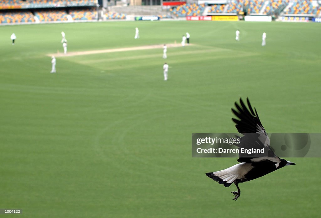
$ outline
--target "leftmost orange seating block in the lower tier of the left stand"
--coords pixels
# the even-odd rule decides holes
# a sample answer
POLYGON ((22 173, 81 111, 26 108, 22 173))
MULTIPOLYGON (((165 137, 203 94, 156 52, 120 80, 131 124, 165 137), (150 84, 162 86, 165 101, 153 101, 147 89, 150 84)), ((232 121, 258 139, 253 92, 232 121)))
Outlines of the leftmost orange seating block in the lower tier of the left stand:
POLYGON ((33 14, 29 11, 0 12, 0 23, 28 23, 35 22, 33 14))

